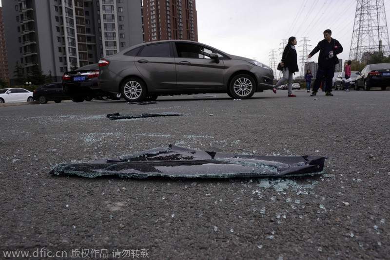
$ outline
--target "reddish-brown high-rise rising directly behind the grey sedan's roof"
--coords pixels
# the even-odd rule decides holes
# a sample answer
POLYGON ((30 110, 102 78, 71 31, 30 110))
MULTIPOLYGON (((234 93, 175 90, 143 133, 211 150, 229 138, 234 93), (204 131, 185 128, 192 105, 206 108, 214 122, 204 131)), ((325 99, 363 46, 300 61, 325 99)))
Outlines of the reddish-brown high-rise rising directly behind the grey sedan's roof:
POLYGON ((198 40, 195 0, 143 0, 145 42, 198 40))

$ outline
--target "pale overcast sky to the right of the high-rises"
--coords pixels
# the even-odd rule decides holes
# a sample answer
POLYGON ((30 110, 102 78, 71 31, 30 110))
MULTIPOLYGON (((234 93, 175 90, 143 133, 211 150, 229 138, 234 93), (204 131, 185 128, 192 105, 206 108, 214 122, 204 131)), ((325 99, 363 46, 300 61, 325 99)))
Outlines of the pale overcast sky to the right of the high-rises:
MULTIPOLYGON (((301 71, 304 37, 308 52, 331 29, 332 38, 343 46, 338 58, 349 59, 356 0, 196 0, 198 41, 228 54, 256 59, 271 65, 281 59, 283 39, 297 38, 301 71), (311 45, 311 46, 310 46, 311 45)), ((390 0, 384 0, 387 23, 390 0)), ((389 24, 390 26, 390 24, 389 24)), ((309 61, 318 61, 318 53, 309 61)), ((296 74, 296 75, 300 75, 296 74)))

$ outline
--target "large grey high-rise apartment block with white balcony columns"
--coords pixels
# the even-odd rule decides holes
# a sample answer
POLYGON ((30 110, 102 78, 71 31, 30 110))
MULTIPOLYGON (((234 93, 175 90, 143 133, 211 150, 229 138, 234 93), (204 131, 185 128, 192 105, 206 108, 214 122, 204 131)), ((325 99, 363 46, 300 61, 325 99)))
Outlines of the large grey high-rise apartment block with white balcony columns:
MULTIPOLYGON (((143 42, 141 0, 2 1, 9 69, 65 71, 143 42)), ((10 75, 10 81, 14 76, 10 75)))

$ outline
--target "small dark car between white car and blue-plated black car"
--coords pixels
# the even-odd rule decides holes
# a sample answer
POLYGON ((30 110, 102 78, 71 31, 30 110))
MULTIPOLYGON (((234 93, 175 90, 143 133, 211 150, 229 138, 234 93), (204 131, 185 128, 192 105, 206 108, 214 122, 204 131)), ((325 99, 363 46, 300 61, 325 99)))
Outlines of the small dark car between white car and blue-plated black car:
POLYGON ((66 95, 62 91, 61 82, 51 82, 45 84, 33 91, 34 100, 39 101, 41 104, 46 104, 47 101, 54 101, 60 103, 62 100, 69 100, 70 96, 66 95))

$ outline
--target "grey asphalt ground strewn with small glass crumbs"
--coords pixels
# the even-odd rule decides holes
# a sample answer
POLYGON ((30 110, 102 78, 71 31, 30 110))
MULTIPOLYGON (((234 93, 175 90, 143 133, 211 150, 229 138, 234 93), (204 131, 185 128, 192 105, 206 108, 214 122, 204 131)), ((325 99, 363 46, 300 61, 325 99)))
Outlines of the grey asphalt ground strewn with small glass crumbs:
POLYGON ((294 93, 1 105, 0 259, 389 259, 389 88, 294 93), (169 144, 332 158, 285 179, 49 174, 169 144))

